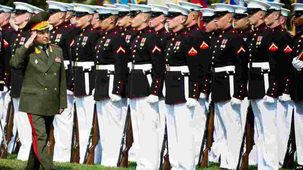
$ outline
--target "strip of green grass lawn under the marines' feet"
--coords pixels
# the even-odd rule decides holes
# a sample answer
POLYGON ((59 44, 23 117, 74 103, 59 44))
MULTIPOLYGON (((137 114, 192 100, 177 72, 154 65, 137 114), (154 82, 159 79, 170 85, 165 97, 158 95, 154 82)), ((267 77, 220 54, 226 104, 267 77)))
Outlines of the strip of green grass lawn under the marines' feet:
MULTIPOLYGON (((18 169, 25 169, 26 162, 25 161, 18 161, 17 155, 8 155, 8 159, 0 159, 0 170, 18 170, 18 169)), ((55 169, 56 170, 127 170, 133 169, 135 170, 136 163, 135 162, 128 162, 128 168, 111 168, 111 167, 104 167, 101 165, 81 165, 75 163, 58 163, 55 162, 55 169)), ((40 168, 41 169, 41 168, 40 168)), ((210 163, 209 168, 203 168, 203 170, 219 170, 219 164, 217 163, 210 163)), ((255 166, 250 166, 249 170, 256 169, 255 166)), ((202 169, 199 169, 202 170, 202 169)), ((284 169, 281 169, 284 170, 284 169)))

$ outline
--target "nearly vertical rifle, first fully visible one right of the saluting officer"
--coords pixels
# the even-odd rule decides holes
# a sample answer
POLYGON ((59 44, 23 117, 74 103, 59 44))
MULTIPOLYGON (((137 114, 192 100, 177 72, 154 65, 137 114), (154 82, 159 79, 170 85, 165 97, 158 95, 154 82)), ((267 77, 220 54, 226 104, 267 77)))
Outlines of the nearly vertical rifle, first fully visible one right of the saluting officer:
POLYGON ((76 103, 74 103, 74 123, 72 132, 72 149, 70 162, 80 163, 79 128, 76 103))

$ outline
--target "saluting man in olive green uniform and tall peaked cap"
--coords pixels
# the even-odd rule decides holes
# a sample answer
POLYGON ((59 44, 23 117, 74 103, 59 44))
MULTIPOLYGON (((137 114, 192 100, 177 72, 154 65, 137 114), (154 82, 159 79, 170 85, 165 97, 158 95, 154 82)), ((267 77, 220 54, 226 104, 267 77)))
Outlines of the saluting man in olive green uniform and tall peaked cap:
POLYGON ((19 104, 19 111, 28 113, 33 135, 26 169, 55 169, 47 142, 54 115, 67 108, 62 49, 49 44, 48 18, 41 12, 28 22, 25 30, 32 35, 10 60, 12 67, 26 67, 19 104))

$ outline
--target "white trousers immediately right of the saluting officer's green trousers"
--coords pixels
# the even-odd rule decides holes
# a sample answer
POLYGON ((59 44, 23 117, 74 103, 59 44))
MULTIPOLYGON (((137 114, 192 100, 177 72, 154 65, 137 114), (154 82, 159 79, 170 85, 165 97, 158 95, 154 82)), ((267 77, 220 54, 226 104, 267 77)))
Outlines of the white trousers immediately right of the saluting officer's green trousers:
POLYGON ((54 159, 56 162, 69 162, 71 158, 72 130, 74 122, 74 95, 67 95, 67 109, 54 118, 54 159))

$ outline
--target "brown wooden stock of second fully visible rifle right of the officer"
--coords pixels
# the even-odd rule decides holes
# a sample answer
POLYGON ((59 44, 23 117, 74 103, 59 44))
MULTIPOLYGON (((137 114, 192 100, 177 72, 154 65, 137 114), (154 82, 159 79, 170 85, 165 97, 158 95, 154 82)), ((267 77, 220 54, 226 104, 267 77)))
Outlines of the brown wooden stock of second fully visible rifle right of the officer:
MULTIPOLYGON (((92 145, 89 147, 88 155, 86 157, 86 160, 84 162, 85 165, 93 165, 95 162, 95 148, 98 145, 98 116, 97 116, 97 110, 96 110, 96 103, 94 106, 94 120, 93 120, 93 134, 92 134, 92 145)), ((86 151, 87 152, 87 151, 86 151)))

